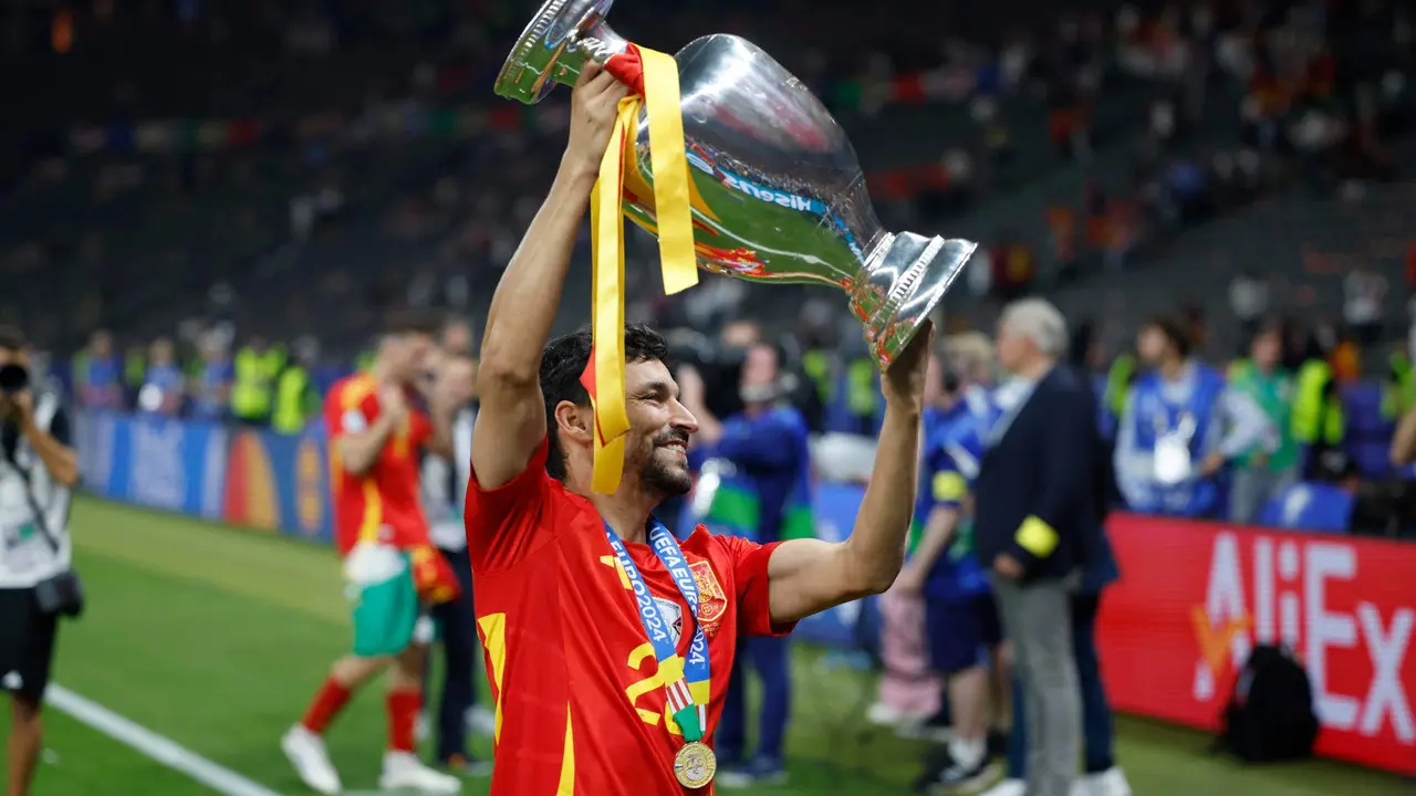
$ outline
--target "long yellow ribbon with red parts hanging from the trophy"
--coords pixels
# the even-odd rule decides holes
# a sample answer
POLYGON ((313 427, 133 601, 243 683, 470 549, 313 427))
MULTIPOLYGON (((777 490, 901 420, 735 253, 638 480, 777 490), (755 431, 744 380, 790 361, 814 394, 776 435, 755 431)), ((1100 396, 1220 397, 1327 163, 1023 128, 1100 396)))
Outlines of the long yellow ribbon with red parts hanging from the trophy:
MULTIPOLYGON (((610 144, 600 159, 599 180, 590 191, 590 234, 593 251, 593 299, 590 330, 593 351, 582 382, 595 411, 595 469, 590 489, 610 494, 624 469, 624 170, 636 169, 633 146, 639 112, 649 119, 650 166, 654 177, 654 215, 658 220, 658 259, 664 293, 698 283, 694 255, 692 210, 690 205, 688 154, 684 149, 684 118, 678 110, 678 64, 673 57, 646 47, 629 45, 616 59, 637 59, 641 67, 632 89, 639 93, 619 103, 610 144), (629 153, 626 154, 626 150, 629 153)), ((617 64, 612 72, 634 76, 633 64, 617 64)))

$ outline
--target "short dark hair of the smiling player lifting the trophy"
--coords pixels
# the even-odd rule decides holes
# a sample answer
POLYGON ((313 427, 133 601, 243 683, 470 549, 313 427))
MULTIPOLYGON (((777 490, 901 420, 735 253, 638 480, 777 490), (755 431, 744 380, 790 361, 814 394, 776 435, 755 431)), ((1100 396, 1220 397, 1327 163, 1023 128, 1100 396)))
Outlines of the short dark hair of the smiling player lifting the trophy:
MULTIPOLYGON (((576 406, 589 406, 590 394, 581 384, 581 375, 590 364, 590 330, 582 329, 573 334, 556 337, 541 351, 541 394, 545 397, 545 470, 551 477, 565 480, 565 452, 555 433, 555 408, 561 401, 576 406)), ((624 324, 624 361, 653 363, 668 358, 668 343, 664 336, 643 323, 624 324)))

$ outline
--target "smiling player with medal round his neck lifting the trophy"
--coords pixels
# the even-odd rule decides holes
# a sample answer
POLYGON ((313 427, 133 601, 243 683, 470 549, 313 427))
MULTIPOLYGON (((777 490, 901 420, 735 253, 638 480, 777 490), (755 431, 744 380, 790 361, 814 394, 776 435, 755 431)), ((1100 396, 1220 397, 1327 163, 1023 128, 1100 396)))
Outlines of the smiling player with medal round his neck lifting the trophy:
POLYGON ((481 347, 466 520, 497 712, 494 795, 711 792, 711 752, 694 739, 711 745, 739 633, 786 633, 882 592, 903 558, 929 333, 884 378, 875 472, 847 542, 758 545, 702 528, 673 541, 651 511, 688 491, 697 425, 663 339, 641 326, 626 330, 624 477, 615 494, 590 493, 595 419, 579 381, 590 339, 547 337, 622 96, 599 68, 581 74, 561 169, 481 347))

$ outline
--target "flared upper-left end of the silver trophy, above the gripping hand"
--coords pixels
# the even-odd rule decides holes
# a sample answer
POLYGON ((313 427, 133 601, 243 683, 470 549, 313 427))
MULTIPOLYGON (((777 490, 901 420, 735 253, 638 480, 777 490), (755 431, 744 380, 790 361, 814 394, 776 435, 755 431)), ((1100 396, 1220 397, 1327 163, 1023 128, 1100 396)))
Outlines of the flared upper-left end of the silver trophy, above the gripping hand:
POLYGON ((586 58, 605 62, 629 42, 605 23, 615 0, 547 0, 497 74, 496 92, 527 105, 573 85, 586 58))

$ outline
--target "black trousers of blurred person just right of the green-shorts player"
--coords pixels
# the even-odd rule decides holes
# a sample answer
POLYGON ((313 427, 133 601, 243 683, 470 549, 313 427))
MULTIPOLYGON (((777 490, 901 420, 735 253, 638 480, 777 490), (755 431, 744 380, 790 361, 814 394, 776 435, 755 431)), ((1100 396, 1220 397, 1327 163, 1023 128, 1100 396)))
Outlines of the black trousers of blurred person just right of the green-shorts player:
POLYGON ((438 708, 438 759, 446 761, 453 755, 469 756, 467 711, 477 694, 473 684, 477 669, 474 661, 477 615, 472 610, 472 559, 467 557, 467 551, 440 550, 439 552, 452 571, 457 574, 457 582, 462 585, 462 593, 457 599, 432 609, 433 620, 438 622, 442 635, 443 650, 442 703, 438 708))

